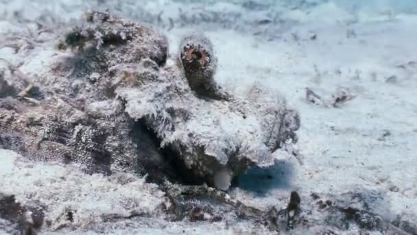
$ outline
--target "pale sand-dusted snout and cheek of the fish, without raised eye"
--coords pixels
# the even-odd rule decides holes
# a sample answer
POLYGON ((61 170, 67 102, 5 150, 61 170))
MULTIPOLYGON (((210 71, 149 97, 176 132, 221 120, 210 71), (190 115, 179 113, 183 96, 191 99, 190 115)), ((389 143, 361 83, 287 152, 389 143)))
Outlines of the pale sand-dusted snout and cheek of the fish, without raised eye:
POLYGON ((298 115, 266 89, 254 87, 256 92, 249 93, 248 100, 206 100, 195 96, 181 68, 145 64, 152 61, 121 69, 128 77, 123 80, 134 82, 124 82, 115 92, 126 100, 130 117, 145 119, 162 146, 174 150, 184 166, 206 183, 215 185, 217 172, 228 170, 232 178, 248 166, 274 164, 274 150, 299 127, 283 126, 284 120, 291 122, 285 119, 287 113, 298 115))

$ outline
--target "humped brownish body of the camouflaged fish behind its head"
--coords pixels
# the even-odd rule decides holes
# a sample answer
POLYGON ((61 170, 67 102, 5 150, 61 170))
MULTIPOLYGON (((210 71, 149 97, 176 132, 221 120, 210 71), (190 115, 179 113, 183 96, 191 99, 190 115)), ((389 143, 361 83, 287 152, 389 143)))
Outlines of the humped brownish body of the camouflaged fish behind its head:
POLYGON ((57 51, 51 67, 40 74, 1 73, 0 89, 11 92, 0 97, 0 148, 31 159, 78 162, 90 173, 144 175, 147 163, 139 164, 138 155, 152 153, 160 159, 160 153, 157 147, 138 144, 148 137, 124 113, 112 82, 119 64, 137 66, 149 58, 164 65, 166 38, 107 12, 89 12, 87 24, 74 27, 63 41, 67 44, 60 47, 72 47, 73 54, 57 51), (28 84, 40 87, 43 97, 19 95, 28 84))

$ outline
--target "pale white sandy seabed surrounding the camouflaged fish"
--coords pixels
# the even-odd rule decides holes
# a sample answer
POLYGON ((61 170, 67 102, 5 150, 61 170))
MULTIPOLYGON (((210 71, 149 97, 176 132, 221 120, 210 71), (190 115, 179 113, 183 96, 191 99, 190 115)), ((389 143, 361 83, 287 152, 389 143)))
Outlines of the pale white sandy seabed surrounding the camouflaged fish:
MULTIPOLYGON (((24 35, 35 20, 67 27, 84 10, 106 7, 159 27, 172 54, 182 35, 204 31, 219 60, 219 85, 236 96, 254 83, 266 85, 283 94, 302 120, 297 146, 302 157, 277 152, 275 166, 248 170, 229 190, 232 196, 257 208, 284 208, 292 190, 301 197, 372 192, 379 197, 373 205, 379 214, 417 223, 417 4, 306 2, 0 1, 0 33, 24 35), (306 99, 307 87, 320 102, 306 99), (334 107, 340 90, 352 99, 334 107)), ((0 58, 22 64, 21 71, 29 75, 48 56, 36 45, 30 54, 3 45, 0 58)), ((120 186, 76 166, 29 163, 8 150, 0 150, 0 179, 0 192, 15 194, 18 201, 30 195, 57 204, 50 213, 78 205, 89 212, 80 218, 80 227, 99 214, 126 213, 126 198, 150 211, 163 200, 163 193, 142 179, 120 186), (141 190, 133 193, 132 187, 141 190)), ((244 221, 229 226, 143 219, 104 223, 99 230, 245 234, 251 231, 248 226, 244 221)))

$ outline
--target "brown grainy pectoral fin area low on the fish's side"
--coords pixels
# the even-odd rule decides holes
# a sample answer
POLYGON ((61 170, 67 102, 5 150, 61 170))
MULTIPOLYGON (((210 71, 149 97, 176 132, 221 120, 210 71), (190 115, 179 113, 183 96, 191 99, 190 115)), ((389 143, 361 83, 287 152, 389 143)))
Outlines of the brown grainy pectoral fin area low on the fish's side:
POLYGON ((0 148, 41 161, 78 162, 90 173, 138 168, 132 122, 123 113, 94 120, 69 105, 12 98, 0 100, 0 113, 0 148))

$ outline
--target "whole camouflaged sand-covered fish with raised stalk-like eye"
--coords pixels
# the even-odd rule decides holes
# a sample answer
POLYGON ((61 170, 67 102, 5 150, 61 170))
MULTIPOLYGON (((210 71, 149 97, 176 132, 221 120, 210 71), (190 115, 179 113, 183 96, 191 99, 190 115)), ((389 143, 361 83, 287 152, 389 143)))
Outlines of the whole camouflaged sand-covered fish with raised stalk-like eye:
POLYGON ((43 93, 36 104, 12 97, 19 111, 3 100, 3 148, 59 156, 106 174, 156 166, 163 157, 142 156, 143 144, 133 138, 141 120, 177 166, 198 182, 227 189, 227 181, 249 166, 274 164, 274 150, 296 139, 299 124, 288 122, 298 115, 283 98, 254 87, 242 100, 215 84, 216 58, 203 36, 185 36, 181 63, 167 67, 165 36, 108 12, 88 12, 86 23, 59 45, 66 47, 71 55, 57 52, 51 69, 32 78, 43 93))

